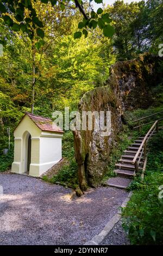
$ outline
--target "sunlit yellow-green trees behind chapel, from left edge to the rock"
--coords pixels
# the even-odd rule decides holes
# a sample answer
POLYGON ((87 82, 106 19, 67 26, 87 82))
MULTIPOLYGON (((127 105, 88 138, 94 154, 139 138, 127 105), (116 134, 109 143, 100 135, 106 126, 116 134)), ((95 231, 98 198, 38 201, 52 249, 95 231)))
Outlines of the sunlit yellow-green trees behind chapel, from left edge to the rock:
MULTIPOLYGON (((112 60, 110 57, 105 61, 101 55, 101 41, 96 40, 95 44, 91 35, 86 39, 84 36, 78 40, 73 39, 78 13, 73 19, 71 13, 67 14, 66 20, 60 16, 62 22, 58 27, 55 16, 51 16, 51 8, 48 7, 46 12, 38 2, 35 4, 37 13, 41 8, 41 20, 47 19, 47 13, 49 15, 47 26, 50 29, 45 28, 44 40, 32 42, 21 32, 9 33, 0 18, 0 32, 6 42, 3 57, 0 57, 0 121, 2 119, 3 122, 3 129, 0 131, 0 154, 7 147, 7 127, 11 128, 13 140, 12 132, 18 121, 24 112, 30 111, 33 56, 36 78, 34 113, 45 117, 52 117, 53 111, 63 110, 65 106, 76 109, 84 93, 95 86, 103 85, 112 60), (48 40, 52 40, 51 44, 48 40)), ((56 9, 56 16, 59 15, 57 11, 56 9)))

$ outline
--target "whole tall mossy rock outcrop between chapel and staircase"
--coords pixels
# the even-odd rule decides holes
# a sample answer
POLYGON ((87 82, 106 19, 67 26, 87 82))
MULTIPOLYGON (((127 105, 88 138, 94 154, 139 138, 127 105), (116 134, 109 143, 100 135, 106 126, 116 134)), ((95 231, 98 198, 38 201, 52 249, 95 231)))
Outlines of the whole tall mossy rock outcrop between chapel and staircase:
POLYGON ((80 113, 111 111, 108 136, 103 136, 100 130, 73 132, 81 189, 86 185, 95 187, 101 181, 111 151, 118 143, 118 133, 122 131, 124 111, 152 105, 154 99, 150 88, 160 79, 159 61, 159 57, 146 53, 134 60, 117 62, 111 66, 105 86, 87 92, 80 100, 80 113))

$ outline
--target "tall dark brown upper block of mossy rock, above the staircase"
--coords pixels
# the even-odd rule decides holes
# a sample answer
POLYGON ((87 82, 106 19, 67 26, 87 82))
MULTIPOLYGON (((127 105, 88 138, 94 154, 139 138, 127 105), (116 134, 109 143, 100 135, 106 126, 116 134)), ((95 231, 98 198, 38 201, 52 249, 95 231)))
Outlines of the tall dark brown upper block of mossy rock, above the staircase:
POLYGON ((110 68, 106 85, 121 98, 122 109, 148 108, 154 103, 152 88, 162 79, 159 72, 161 58, 150 53, 137 59, 117 62, 110 68))

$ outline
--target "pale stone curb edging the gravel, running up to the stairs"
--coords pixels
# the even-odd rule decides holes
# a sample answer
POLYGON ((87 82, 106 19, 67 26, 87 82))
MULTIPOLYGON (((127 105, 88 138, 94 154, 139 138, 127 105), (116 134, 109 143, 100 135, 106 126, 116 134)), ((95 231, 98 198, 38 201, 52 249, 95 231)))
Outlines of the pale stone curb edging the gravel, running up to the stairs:
MULTIPOLYGON (((121 208, 125 208, 127 203, 129 202, 131 196, 133 194, 133 191, 130 191, 127 198, 123 201, 123 203, 121 204, 121 208)), ((84 245, 99 245, 99 243, 101 243, 105 237, 110 233, 110 231, 114 228, 115 224, 120 221, 121 219, 121 214, 122 211, 118 210, 117 214, 115 214, 110 221, 108 221, 108 223, 106 223, 105 227, 103 228, 103 230, 98 234, 93 236, 93 238, 87 242, 84 243, 84 245)))

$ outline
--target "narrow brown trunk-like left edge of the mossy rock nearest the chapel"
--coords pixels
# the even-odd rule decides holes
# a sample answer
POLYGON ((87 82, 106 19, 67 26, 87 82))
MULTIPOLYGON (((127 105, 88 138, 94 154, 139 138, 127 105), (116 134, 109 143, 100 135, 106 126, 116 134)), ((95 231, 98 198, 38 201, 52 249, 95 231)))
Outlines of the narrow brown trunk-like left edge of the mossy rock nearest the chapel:
POLYGON ((79 179, 79 187, 82 191, 86 191, 87 182, 85 179, 85 169, 84 169, 84 157, 83 157, 83 149, 82 149, 82 136, 80 135, 80 131, 73 131, 74 137, 74 150, 76 161, 78 163, 78 179, 79 179))

